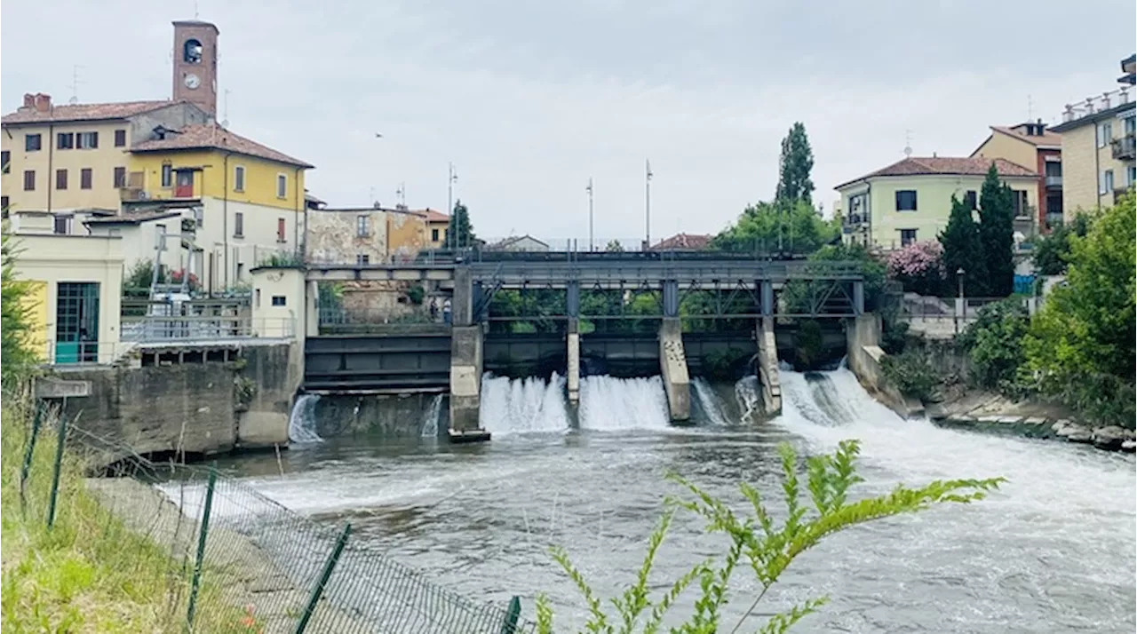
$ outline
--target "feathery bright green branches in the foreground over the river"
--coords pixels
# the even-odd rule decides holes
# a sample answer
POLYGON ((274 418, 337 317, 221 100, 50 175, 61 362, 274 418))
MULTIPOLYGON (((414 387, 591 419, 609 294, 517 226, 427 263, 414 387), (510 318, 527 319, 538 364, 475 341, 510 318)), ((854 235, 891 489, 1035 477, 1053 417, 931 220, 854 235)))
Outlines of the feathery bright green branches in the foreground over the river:
MULTIPOLYGON (((588 581, 573 566, 568 554, 554 550, 554 559, 564 568, 584 598, 589 618, 584 632, 591 634, 652 634, 664 628, 664 618, 680 597, 691 586, 698 587, 692 612, 682 625, 667 631, 683 634, 712 634, 747 632, 763 634, 783 633, 802 618, 816 611, 828 598, 807 599, 789 611, 775 614, 761 627, 754 614, 766 591, 772 587, 794 559, 815 547, 824 537, 846 528, 902 514, 919 512, 935 504, 947 502, 969 503, 981 500, 988 491, 997 489, 1002 478, 936 481, 922 487, 898 485, 886 495, 850 501, 849 491, 862 478, 856 474, 857 441, 844 441, 831 456, 815 456, 805 460, 802 472, 797 454, 789 445, 780 448, 782 462, 782 491, 785 519, 775 520, 762 500, 758 490, 747 483, 739 484, 742 497, 753 514, 738 515, 727 502, 712 497, 695 484, 679 476, 670 476, 689 495, 669 498, 658 527, 648 540, 642 566, 620 597, 601 600, 588 581), (805 491, 803 491, 805 489, 805 491), (712 559, 692 567, 669 586, 661 597, 653 598, 652 568, 677 512, 692 512, 706 520, 707 533, 722 533, 730 540, 730 548, 721 559, 712 559), (762 590, 753 598, 739 598, 747 604, 737 620, 728 623, 723 609, 731 601, 730 584, 739 568, 749 568, 762 590), (615 608, 615 612, 609 608, 615 608), (730 626, 732 625, 732 628, 730 626)), ((539 634, 551 634, 553 609, 547 598, 538 598, 539 634)))

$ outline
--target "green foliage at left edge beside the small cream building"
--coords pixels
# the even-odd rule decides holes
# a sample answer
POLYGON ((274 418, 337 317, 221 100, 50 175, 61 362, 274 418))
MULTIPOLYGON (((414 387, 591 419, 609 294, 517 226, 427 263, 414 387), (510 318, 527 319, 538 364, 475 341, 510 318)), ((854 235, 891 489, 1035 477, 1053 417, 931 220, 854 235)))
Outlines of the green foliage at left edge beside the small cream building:
MULTIPOLYGON (((7 218, 7 211, 0 208, 0 216, 7 218)), ((8 222, 0 224, 0 390, 10 393, 35 365, 39 333, 32 331, 30 284, 16 276, 15 239, 8 222)))

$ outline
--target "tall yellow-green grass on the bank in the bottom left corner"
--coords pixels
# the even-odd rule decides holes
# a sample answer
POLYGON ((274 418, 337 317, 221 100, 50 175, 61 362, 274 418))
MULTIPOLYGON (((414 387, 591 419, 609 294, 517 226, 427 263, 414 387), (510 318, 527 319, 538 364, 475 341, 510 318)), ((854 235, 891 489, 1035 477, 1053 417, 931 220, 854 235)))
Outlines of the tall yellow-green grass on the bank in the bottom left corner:
MULTIPOLYGON (((80 458, 67 453, 56 522, 47 528, 56 452, 45 419, 20 503, 19 473, 30 406, 0 404, 0 631, 13 634, 185 632, 192 561, 131 532, 84 486, 80 458)), ((194 632, 249 634, 241 610, 204 584, 194 632)))

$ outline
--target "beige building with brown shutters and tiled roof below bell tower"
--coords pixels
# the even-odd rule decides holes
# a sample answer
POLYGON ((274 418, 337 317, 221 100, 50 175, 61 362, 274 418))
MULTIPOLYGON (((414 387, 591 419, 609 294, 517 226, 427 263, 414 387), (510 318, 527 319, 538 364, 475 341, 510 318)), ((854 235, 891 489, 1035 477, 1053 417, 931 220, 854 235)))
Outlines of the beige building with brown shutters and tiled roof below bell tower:
POLYGON ((131 147, 157 126, 205 123, 189 103, 133 101, 56 106, 47 94, 25 94, 0 116, 0 208, 57 217, 56 233, 86 233, 78 210, 118 211, 131 147))

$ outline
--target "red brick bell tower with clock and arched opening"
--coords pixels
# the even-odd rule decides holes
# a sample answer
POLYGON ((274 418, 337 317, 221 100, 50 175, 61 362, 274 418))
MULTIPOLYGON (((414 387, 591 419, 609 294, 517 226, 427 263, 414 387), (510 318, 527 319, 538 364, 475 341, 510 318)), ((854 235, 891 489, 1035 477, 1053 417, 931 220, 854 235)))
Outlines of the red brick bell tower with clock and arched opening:
POLYGON ((217 27, 208 22, 174 23, 175 101, 189 101, 217 117, 217 27))

